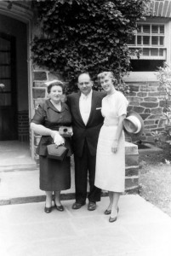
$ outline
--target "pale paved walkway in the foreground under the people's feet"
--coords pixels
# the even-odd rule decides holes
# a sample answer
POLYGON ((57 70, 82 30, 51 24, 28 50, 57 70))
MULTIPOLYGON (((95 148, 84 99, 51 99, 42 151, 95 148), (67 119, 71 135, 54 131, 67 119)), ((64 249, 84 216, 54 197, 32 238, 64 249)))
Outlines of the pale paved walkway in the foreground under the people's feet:
POLYGON ((2 256, 170 256, 171 218, 139 195, 122 195, 117 222, 87 206, 43 212, 44 202, 0 207, 2 256))

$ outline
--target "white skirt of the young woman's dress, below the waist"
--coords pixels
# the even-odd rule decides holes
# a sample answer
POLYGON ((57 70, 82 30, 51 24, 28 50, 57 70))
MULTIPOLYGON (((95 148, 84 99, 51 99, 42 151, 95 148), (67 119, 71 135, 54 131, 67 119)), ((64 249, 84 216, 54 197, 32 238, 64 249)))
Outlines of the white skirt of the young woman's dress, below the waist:
POLYGON ((117 153, 111 152, 117 126, 103 125, 100 130, 96 155, 95 186, 113 192, 124 192, 125 188, 125 137, 118 142, 117 153))

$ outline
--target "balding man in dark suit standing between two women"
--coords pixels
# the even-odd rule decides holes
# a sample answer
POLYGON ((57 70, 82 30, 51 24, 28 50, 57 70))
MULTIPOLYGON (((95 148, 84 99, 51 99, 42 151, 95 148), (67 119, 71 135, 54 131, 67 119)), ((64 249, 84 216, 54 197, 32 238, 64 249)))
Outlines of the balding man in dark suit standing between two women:
POLYGON ((88 210, 96 208, 100 201, 100 189, 94 186, 96 148, 100 128, 103 124, 101 101, 104 92, 92 90, 93 81, 88 73, 78 77, 78 93, 67 96, 67 103, 72 116, 72 147, 75 160, 76 202, 73 209, 81 208, 87 197, 89 180, 88 210))

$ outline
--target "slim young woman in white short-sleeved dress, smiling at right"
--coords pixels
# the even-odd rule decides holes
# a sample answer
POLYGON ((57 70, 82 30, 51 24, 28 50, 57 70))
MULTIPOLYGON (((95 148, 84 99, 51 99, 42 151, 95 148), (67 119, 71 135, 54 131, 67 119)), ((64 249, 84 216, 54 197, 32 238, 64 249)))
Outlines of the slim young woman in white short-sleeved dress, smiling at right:
POLYGON ((115 89, 113 73, 100 73, 98 79, 107 96, 102 100, 101 113, 105 119, 97 146, 95 186, 109 191, 110 204, 105 214, 111 214, 109 222, 114 222, 117 220, 119 196, 124 192, 123 119, 126 117, 128 101, 122 92, 115 89))

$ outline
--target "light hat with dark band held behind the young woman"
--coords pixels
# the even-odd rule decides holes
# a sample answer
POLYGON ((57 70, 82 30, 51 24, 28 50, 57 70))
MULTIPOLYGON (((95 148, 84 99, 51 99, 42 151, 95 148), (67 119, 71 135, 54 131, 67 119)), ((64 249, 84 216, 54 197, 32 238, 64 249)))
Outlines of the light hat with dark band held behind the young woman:
POLYGON ((140 136, 144 131, 144 121, 139 113, 131 110, 123 120, 123 128, 129 135, 140 136))

